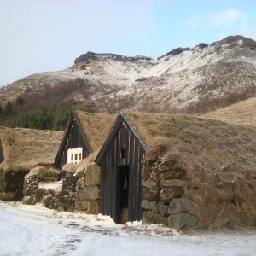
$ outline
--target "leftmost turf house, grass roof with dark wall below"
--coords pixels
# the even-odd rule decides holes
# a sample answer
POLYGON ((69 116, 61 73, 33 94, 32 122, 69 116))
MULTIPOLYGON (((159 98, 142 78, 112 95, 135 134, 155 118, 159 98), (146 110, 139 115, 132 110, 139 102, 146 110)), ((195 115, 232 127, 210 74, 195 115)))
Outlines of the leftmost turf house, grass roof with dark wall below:
POLYGON ((0 127, 0 200, 21 200, 25 175, 53 166, 62 132, 0 127))

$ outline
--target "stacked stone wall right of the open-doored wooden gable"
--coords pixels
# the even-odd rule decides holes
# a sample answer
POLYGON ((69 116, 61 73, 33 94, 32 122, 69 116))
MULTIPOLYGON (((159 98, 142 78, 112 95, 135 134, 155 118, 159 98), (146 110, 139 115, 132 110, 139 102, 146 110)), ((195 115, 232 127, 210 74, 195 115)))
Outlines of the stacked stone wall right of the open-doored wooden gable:
POLYGON ((186 171, 172 160, 144 160, 143 164, 143 224, 194 228, 197 218, 189 214, 192 202, 183 197, 186 171))

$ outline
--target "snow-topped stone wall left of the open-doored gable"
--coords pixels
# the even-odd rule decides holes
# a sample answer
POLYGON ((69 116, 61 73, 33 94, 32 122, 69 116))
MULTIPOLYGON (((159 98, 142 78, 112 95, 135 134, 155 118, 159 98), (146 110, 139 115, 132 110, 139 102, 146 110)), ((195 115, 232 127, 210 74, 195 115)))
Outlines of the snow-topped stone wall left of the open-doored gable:
POLYGON ((99 213, 100 169, 90 164, 80 171, 62 169, 62 180, 56 182, 58 172, 38 167, 25 178, 24 204, 38 202, 45 207, 66 212, 99 213), (61 188, 60 188, 61 186, 61 188))

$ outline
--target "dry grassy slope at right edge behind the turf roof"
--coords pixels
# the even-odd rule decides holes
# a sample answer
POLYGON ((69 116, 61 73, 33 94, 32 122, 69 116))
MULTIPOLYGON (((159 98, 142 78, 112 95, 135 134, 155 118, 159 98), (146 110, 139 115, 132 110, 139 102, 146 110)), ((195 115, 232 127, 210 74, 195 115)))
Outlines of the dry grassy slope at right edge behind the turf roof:
POLYGON ((256 97, 207 113, 203 117, 218 119, 235 125, 256 126, 256 97))

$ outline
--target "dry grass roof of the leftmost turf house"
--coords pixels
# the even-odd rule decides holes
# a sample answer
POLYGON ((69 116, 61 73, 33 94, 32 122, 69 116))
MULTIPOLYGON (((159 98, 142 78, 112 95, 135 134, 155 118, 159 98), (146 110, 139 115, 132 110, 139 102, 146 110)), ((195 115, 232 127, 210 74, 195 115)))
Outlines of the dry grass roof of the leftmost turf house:
POLYGON ((53 164, 63 132, 0 127, 4 161, 0 169, 29 170, 38 164, 53 164))

